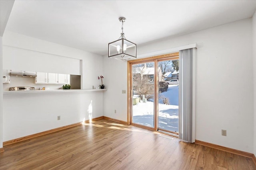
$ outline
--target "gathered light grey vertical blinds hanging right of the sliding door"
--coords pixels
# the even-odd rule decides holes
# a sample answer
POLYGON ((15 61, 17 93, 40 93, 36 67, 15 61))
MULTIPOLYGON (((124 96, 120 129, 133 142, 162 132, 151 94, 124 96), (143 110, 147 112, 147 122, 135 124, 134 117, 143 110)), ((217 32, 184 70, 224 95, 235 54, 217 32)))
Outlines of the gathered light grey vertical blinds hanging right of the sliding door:
POLYGON ((180 51, 179 71, 179 139, 194 143, 195 49, 180 51))

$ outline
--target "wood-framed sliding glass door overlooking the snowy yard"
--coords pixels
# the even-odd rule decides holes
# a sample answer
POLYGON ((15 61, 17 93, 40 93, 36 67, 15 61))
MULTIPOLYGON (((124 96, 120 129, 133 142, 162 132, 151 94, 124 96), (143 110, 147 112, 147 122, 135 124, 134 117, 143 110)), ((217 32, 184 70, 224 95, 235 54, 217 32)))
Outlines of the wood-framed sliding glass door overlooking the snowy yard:
POLYGON ((178 53, 128 63, 130 124, 178 134, 178 53))

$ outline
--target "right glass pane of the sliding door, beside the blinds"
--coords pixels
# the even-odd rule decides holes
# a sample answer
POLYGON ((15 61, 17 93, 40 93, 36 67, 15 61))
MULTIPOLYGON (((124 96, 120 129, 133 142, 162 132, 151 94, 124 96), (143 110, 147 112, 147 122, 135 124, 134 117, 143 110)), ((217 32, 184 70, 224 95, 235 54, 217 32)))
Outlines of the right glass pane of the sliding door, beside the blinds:
POLYGON ((178 134, 178 60, 159 61, 162 70, 158 83, 158 130, 178 134))

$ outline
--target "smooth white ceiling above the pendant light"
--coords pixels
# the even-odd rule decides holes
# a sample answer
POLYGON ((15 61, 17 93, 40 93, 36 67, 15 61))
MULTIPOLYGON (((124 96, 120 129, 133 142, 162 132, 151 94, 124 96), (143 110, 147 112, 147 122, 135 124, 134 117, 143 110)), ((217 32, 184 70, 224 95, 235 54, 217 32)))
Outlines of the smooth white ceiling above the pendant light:
POLYGON ((6 30, 108 54, 124 33, 137 45, 250 18, 256 1, 16 0, 6 30))

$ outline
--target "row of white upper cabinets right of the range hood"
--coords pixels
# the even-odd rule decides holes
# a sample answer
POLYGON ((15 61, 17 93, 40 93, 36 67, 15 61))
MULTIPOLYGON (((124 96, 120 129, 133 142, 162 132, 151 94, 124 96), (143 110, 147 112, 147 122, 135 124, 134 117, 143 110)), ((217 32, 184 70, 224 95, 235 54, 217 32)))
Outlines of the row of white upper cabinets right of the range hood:
POLYGON ((70 84, 70 74, 36 73, 36 84, 70 84))

